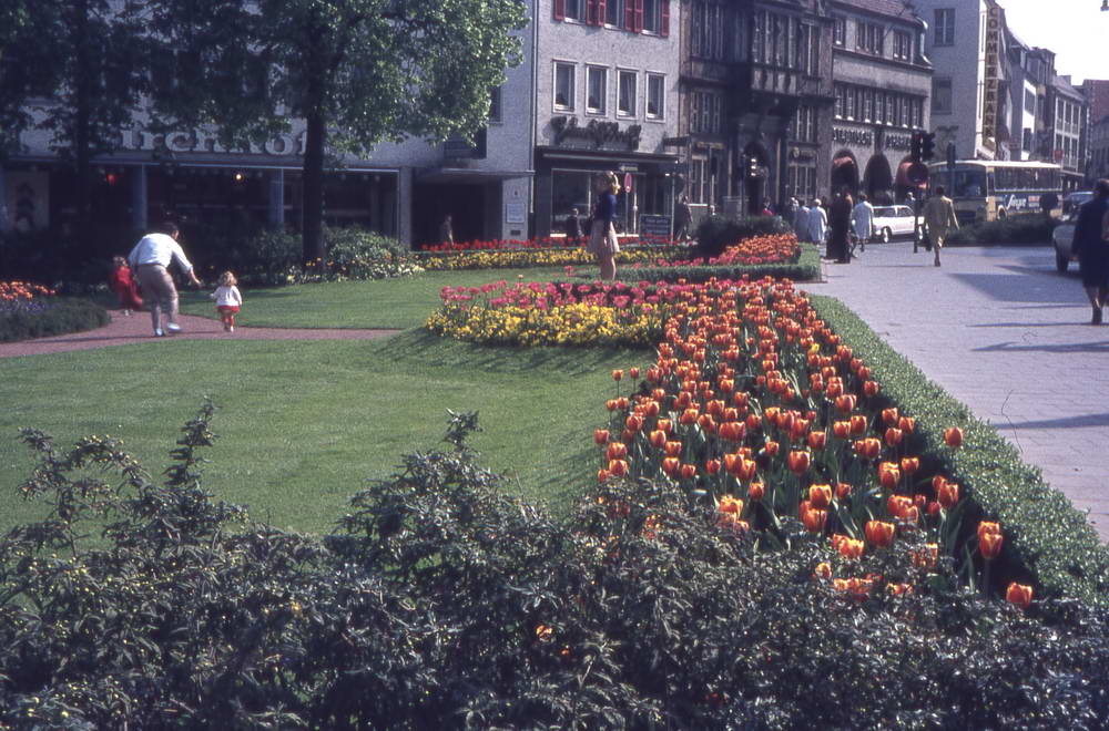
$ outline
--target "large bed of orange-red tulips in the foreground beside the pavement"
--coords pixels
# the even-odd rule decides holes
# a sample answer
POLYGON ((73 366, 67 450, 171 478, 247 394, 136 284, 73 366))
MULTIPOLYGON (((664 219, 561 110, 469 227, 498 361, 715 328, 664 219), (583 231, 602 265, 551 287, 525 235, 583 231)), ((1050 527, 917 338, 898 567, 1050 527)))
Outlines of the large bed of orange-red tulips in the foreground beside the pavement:
MULTIPOLYGON (((769 278, 715 285, 682 290, 657 362, 608 401, 610 426, 594 435, 600 481, 673 480, 712 500, 722 527, 769 545, 787 545, 786 522, 798 521, 843 558, 817 576, 852 594, 913 590, 895 576, 853 574, 864 553, 907 535, 918 565, 943 556, 971 585, 989 585, 1000 529, 984 522, 966 537, 960 486, 922 469, 915 420, 878 409, 881 384, 807 298, 769 278)), ((962 432, 947 441, 958 447, 962 432)))

